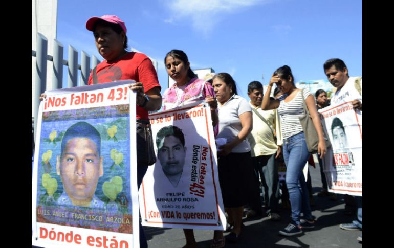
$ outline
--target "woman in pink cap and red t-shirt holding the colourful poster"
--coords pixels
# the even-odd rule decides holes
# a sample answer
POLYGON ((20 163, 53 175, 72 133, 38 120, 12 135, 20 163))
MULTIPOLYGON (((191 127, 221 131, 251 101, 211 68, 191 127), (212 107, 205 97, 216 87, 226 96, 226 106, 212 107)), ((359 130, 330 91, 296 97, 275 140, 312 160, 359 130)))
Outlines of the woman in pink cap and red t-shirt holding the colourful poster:
MULTIPOLYGON (((159 110, 162 105, 161 87, 152 62, 145 54, 125 50, 127 29, 124 21, 117 16, 91 17, 86 22, 86 29, 93 32, 97 50, 105 59, 92 70, 89 84, 135 80, 137 83, 132 84, 130 89, 137 93, 137 130, 149 127, 148 111, 159 110)), ((138 188, 140 188, 148 165, 151 164, 151 162, 141 162, 143 155, 139 156, 139 150, 145 147, 145 142, 137 135, 138 188)), ((148 247, 141 223, 140 247, 148 247)))

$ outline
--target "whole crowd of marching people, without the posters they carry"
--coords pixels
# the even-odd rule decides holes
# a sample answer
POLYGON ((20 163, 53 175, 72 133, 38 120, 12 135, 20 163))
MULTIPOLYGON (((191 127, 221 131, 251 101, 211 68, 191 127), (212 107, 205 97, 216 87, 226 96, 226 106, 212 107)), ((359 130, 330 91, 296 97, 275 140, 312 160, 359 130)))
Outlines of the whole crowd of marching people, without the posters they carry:
MULTIPOLYGON (((250 82, 248 85, 250 100, 247 101, 237 94, 237 85, 230 74, 218 73, 210 80, 198 79, 190 68, 186 53, 181 50, 171 50, 165 55, 164 62, 168 75, 176 83, 162 96, 157 73, 149 58, 142 53, 126 50, 127 29, 120 18, 114 15, 92 17, 87 20, 86 28, 93 32, 97 50, 104 58, 104 61, 92 70, 89 84, 123 79, 135 80, 136 83, 132 84, 130 89, 137 93, 137 123, 149 125, 149 111, 171 109, 196 101, 209 103, 215 138, 227 140, 226 144, 217 147, 217 155, 218 177, 228 216, 226 231, 230 232, 224 236, 224 231, 215 230, 211 247, 224 247, 226 242, 238 242, 242 237, 242 219, 246 206, 249 209, 246 212, 247 218, 268 215, 271 220, 280 221, 280 189, 282 194, 288 192, 291 222, 282 230, 278 230, 279 234, 299 235, 303 229, 314 228, 316 220, 311 211, 311 191, 302 173, 305 163, 311 158, 299 121, 299 117, 303 115, 303 102, 310 112, 319 138, 318 160, 323 189, 318 196, 328 196, 336 200, 336 195, 329 193, 321 166, 321 159, 325 156, 327 147, 317 110, 330 104, 327 93, 322 89, 311 93, 308 89, 297 88, 289 66, 281 66, 273 72, 265 94, 260 82, 250 82), (275 97, 270 97, 273 88, 275 97), (287 167, 284 187, 280 186, 278 176, 280 160, 284 160, 287 167), (260 187, 262 187, 264 208, 260 187)), ((331 103, 353 101, 355 111, 362 111, 362 94, 357 89, 353 89, 355 78, 349 77, 344 62, 337 58, 329 59, 323 67, 325 75, 337 89, 331 96, 331 103), (350 94, 342 96, 345 90, 350 94)), ((160 145, 160 148, 162 146, 166 148, 161 155, 163 160, 171 153, 172 146, 169 145, 171 139, 177 139, 176 141, 181 143, 180 139, 174 136, 174 132, 163 136, 163 144, 160 145)), ((159 159, 162 159, 161 156, 159 159)), ((137 167, 138 188, 147 168, 148 164, 139 164, 137 167)), ((170 182, 178 185, 179 178, 175 178, 171 173, 165 171, 168 179, 173 179, 170 182)), ((348 198, 351 199, 348 202, 352 200, 356 202, 355 220, 352 223, 341 224, 340 228, 362 230, 362 197, 348 196, 348 198)), ((90 204, 91 200, 89 198, 86 202, 90 204)), ((193 230, 183 229, 183 231, 186 239, 185 247, 198 247, 193 230)), ((362 241, 362 236, 359 240, 362 241)), ((140 246, 147 247, 141 224, 140 246)))

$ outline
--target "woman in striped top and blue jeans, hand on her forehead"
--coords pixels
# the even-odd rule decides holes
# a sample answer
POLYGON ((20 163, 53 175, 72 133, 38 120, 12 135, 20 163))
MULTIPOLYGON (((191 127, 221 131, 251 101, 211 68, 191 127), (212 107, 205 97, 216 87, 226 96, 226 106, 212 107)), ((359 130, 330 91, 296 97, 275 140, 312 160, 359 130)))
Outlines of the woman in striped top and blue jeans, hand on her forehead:
POLYGON ((302 233, 302 228, 314 228, 309 202, 309 192, 305 183, 302 169, 307 163, 310 153, 302 130, 299 117, 303 116, 303 99, 308 107, 313 124, 319 137, 318 154, 323 157, 326 152, 323 129, 316 110, 315 98, 308 89, 296 88, 294 77, 289 66, 278 68, 267 87, 267 92, 262 99, 263 110, 278 108, 281 118, 281 131, 283 137, 283 158, 287 166, 286 184, 289 190, 292 210, 292 222, 279 234, 292 236, 302 233), (278 99, 270 100, 272 85, 276 83, 283 95, 278 99), (303 94, 302 94, 303 92, 303 94), (303 219, 300 219, 301 211, 303 219))

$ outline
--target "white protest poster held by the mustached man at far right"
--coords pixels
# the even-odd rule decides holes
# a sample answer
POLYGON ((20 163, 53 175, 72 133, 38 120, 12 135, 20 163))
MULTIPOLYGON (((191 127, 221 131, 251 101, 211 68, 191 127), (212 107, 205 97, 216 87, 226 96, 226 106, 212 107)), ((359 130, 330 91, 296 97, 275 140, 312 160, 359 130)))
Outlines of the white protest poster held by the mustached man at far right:
POLYGON ((329 191, 362 196, 362 113, 351 102, 319 112, 331 142, 323 159, 329 191))

